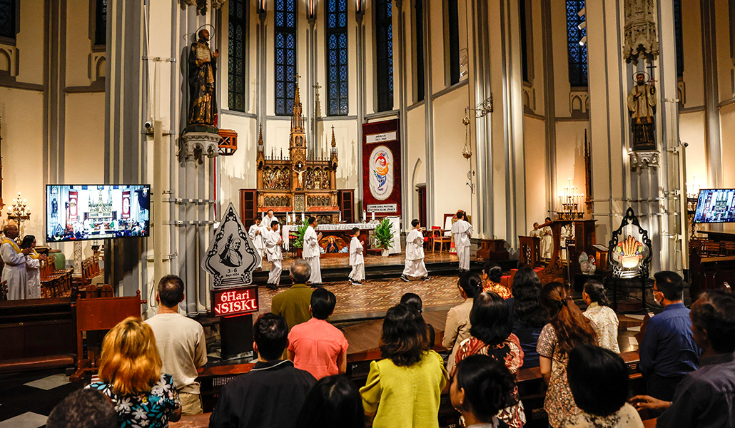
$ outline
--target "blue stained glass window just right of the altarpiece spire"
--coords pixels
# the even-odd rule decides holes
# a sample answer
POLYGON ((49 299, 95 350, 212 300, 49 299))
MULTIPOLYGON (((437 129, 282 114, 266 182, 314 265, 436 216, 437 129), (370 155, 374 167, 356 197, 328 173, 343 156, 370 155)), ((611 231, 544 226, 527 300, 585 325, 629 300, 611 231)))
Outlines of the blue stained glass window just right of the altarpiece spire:
POLYGON ((347 0, 326 1, 327 114, 348 112, 347 0))

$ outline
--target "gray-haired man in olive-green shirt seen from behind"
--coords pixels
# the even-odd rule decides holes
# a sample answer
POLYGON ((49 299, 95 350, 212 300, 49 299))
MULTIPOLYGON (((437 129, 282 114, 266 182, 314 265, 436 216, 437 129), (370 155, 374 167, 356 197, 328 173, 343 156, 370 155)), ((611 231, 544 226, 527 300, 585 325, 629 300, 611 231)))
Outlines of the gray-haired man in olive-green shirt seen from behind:
POLYGON ((312 303, 314 290, 306 285, 306 281, 312 275, 312 268, 306 260, 299 258, 294 261, 288 272, 293 286, 273 296, 270 311, 283 316, 288 324, 288 331, 291 331, 296 324, 307 322, 312 318, 309 305, 312 303))

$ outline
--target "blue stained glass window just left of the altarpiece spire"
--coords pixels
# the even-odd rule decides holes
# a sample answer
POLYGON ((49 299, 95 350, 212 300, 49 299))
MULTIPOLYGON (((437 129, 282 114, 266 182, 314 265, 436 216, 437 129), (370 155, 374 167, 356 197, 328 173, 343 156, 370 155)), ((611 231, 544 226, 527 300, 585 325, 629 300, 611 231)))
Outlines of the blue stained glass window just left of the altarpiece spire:
POLYGON ((296 76, 296 0, 276 0, 276 115, 293 114, 296 76))

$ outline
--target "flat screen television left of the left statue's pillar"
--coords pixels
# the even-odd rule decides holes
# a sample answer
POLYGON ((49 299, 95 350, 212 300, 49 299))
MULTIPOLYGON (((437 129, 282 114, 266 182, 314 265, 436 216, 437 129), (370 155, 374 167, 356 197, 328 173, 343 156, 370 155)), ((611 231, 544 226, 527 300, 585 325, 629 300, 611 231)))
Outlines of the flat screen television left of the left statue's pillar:
POLYGON ((148 184, 49 184, 46 242, 148 236, 148 184))

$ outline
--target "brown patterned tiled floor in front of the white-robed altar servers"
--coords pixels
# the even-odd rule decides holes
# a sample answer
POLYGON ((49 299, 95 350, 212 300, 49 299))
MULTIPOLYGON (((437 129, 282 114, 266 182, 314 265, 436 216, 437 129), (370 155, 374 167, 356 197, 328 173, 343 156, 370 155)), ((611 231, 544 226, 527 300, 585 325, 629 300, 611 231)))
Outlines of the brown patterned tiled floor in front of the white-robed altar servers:
MULTIPOLYGON (((325 283, 324 287, 337 296, 333 321, 361 319, 383 316, 392 306, 398 305, 405 293, 415 293, 421 297, 424 311, 447 310, 462 302, 459 297, 456 276, 434 277, 431 280, 412 280, 405 283, 399 278, 392 280, 367 280, 362 286, 353 286, 347 281, 325 283)), ((273 296, 282 293, 287 287, 270 291, 258 288, 260 312, 270 311, 273 296)), ((254 317, 255 318, 255 317, 254 317)))

